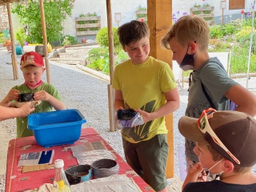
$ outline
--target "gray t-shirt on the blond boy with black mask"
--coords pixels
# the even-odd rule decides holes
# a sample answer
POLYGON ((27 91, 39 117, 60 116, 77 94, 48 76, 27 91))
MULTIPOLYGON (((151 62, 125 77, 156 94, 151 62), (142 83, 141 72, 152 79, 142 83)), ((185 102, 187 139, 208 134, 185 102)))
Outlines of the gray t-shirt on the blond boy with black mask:
MULTIPOLYGON (((201 82, 214 106, 218 106, 217 110, 229 109, 229 99, 225 97, 225 94, 232 86, 238 85, 238 82, 229 78, 218 58, 210 58, 191 74, 186 116, 199 118, 203 110, 212 107, 202 91, 201 82)), ((195 143, 186 139, 185 146, 186 157, 191 161, 198 162, 198 157, 193 151, 195 143)))

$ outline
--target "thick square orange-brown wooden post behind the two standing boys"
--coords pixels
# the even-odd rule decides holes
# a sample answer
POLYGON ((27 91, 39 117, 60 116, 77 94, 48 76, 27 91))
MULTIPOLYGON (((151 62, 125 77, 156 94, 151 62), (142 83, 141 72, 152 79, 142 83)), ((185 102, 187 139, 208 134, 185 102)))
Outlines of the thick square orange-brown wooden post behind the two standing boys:
MULTIPOLYGON (((172 25, 172 1, 148 0, 147 22, 150 28, 150 55, 170 64, 172 67, 172 54, 170 50, 163 49, 160 45, 162 36, 167 33, 172 25)), ((169 155, 166 167, 166 177, 174 177, 174 118, 173 114, 166 116, 168 130, 169 155)))

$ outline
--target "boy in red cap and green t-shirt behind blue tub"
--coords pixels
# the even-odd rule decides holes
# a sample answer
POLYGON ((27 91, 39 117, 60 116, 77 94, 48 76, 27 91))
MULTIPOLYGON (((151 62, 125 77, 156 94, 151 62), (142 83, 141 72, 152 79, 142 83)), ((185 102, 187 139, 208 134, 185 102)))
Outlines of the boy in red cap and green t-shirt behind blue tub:
MULTIPOLYGON (((10 105, 10 101, 18 101, 18 94, 34 93, 34 100, 42 101, 35 106, 33 113, 54 110, 66 110, 56 88, 46 82, 42 82, 42 74, 45 70, 42 56, 34 51, 27 52, 21 58, 21 70, 25 82, 14 86, 1 102, 2 105, 10 105)), ((27 129, 27 117, 16 118, 17 138, 34 135, 32 130, 27 129)))

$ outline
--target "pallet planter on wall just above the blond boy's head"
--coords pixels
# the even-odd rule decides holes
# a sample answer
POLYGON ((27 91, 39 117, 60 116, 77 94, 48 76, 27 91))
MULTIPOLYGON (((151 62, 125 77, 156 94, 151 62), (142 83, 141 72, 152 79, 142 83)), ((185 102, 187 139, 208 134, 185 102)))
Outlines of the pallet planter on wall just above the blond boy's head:
POLYGON ((214 6, 192 7, 190 14, 194 14, 200 18, 204 18, 209 25, 214 24, 214 6))

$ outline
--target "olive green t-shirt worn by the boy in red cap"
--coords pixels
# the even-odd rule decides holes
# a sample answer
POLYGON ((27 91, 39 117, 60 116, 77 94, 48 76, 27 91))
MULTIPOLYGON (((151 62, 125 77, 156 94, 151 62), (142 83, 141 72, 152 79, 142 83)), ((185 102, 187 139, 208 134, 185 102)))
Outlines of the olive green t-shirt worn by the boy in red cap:
MULTIPOLYGON (((20 86, 14 86, 12 90, 19 90, 19 93, 35 93, 38 90, 45 90, 48 94, 52 95, 54 98, 57 98, 58 100, 61 101, 61 98, 58 94, 58 90, 56 90, 54 86, 46 82, 42 82, 42 84, 34 90, 31 90, 25 84, 22 84, 20 86)), ((50 102, 46 102, 46 101, 42 101, 40 105, 35 106, 34 108, 35 109, 34 111, 31 112, 31 114, 54 110, 53 106, 50 105, 50 102)), ((23 137, 34 135, 33 130, 28 129, 27 117, 16 118, 16 125, 17 125, 17 138, 23 138, 23 137)))

